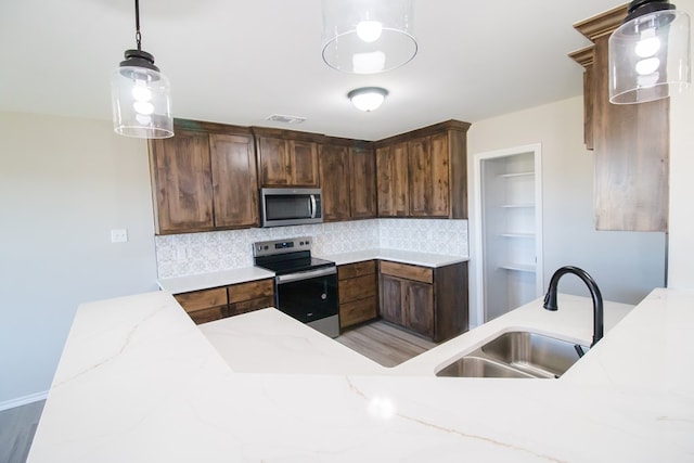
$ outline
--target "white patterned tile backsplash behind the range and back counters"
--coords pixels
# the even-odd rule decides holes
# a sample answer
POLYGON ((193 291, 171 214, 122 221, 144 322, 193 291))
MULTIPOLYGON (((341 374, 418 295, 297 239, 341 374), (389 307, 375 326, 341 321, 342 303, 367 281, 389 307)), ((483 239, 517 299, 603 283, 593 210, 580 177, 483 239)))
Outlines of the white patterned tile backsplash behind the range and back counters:
POLYGON ((257 241, 313 236, 317 256, 377 247, 467 256, 467 220, 372 219, 155 236, 160 279, 253 266, 257 241))

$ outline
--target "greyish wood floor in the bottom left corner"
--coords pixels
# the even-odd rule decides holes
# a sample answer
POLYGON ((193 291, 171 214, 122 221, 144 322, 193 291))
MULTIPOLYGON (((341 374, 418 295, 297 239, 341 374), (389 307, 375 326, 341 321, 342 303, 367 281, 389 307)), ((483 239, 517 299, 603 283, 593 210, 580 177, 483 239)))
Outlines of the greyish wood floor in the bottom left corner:
POLYGON ((46 400, 0 412, 0 462, 25 463, 46 400))

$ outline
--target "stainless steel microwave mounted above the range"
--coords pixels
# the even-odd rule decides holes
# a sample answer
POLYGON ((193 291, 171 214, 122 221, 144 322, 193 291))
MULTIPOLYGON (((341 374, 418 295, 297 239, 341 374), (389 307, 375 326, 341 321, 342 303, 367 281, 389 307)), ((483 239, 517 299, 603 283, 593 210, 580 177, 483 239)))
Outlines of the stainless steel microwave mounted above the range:
POLYGON ((282 227, 321 223, 323 206, 320 189, 260 189, 260 226, 282 227))

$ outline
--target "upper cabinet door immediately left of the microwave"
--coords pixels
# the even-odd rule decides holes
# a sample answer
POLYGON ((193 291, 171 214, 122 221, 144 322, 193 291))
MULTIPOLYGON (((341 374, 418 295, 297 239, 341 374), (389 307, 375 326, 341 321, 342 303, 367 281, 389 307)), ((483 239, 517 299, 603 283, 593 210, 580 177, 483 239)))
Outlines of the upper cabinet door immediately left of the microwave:
POLYGON ((253 137, 213 133, 209 140, 215 226, 257 227, 258 180, 253 137))

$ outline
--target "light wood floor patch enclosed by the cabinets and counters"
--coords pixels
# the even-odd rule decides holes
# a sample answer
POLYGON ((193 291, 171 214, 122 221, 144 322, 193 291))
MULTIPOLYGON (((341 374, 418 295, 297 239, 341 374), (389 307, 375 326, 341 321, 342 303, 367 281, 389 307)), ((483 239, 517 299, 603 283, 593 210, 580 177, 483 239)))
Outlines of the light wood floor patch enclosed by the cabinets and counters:
POLYGON ((335 340, 384 366, 399 365, 436 346, 382 320, 349 330, 335 340))

